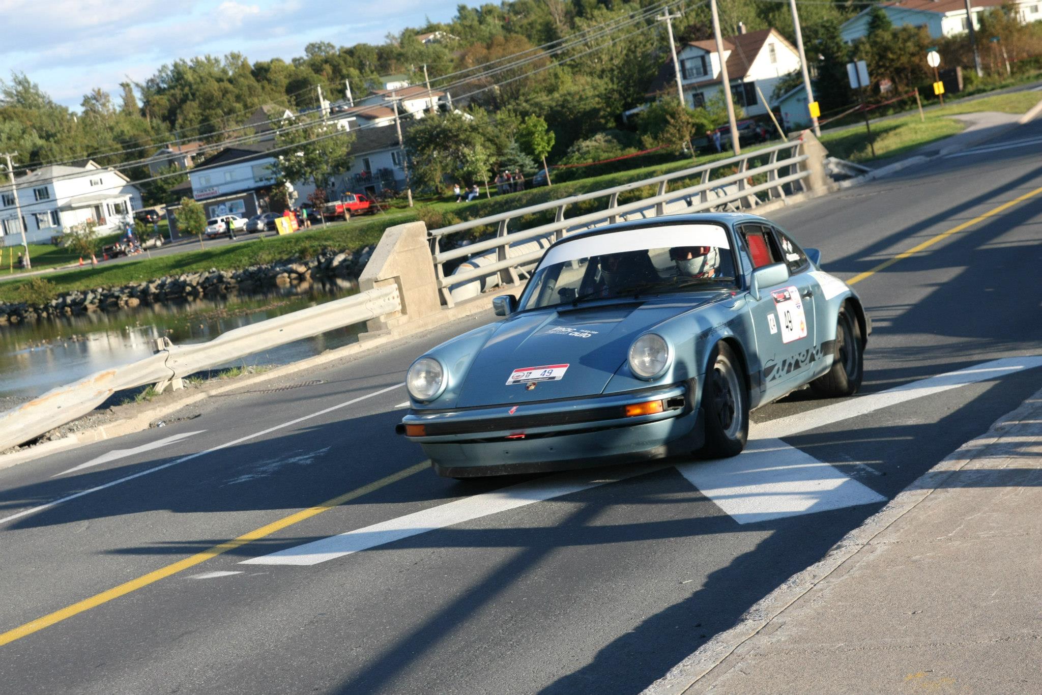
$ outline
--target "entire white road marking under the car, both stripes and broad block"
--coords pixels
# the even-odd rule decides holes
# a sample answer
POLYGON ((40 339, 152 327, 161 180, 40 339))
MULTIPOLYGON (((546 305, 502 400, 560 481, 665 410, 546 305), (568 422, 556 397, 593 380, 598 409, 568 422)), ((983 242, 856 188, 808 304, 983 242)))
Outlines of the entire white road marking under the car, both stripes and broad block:
MULTIPOLYGON (((885 501, 882 495, 867 486, 845 475, 836 467, 782 442, 779 438, 866 415, 913 398, 922 398, 1039 366, 1042 366, 1042 355, 995 359, 880 393, 851 398, 805 414, 753 425, 748 447, 741 455, 723 461, 679 464, 676 468, 703 495, 740 524, 885 501)), ((660 468, 662 466, 630 469, 625 477, 660 468)), ((549 475, 244 560, 240 564, 316 565, 490 514, 588 490, 616 479, 621 478, 598 481, 585 478, 578 473, 549 475)))

